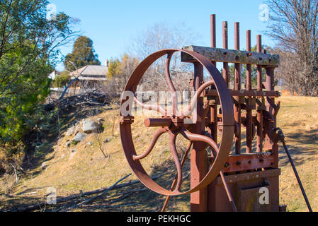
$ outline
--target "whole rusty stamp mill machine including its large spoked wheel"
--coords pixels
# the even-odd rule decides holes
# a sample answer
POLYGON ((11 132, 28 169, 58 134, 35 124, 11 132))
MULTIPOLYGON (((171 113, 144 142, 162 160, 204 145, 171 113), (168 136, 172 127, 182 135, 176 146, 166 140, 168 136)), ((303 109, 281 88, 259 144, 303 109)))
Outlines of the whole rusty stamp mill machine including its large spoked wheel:
MULTIPOLYGON (((276 97, 280 93, 274 90, 274 70, 279 64, 279 56, 262 52, 261 36, 257 36, 257 52, 251 52, 251 31, 246 31, 246 52, 240 51, 239 23, 235 23, 235 49, 228 49, 228 26, 223 22, 223 49, 216 48, 216 18, 211 16, 211 47, 185 47, 165 49, 147 57, 132 73, 125 91, 136 92, 144 72, 157 59, 166 56, 166 83, 173 98, 173 112, 168 116, 161 106, 149 106, 138 102, 143 108, 159 112, 161 118, 147 119, 145 126, 159 127, 154 134, 152 143, 142 155, 137 155, 132 141, 132 115, 120 114, 120 136, 123 149, 130 167, 140 181, 152 191, 168 196, 163 210, 168 205, 170 196, 191 194, 191 211, 237 211, 245 210, 249 193, 244 192, 257 183, 268 184, 271 195, 271 206, 265 209, 256 207, 251 210, 279 210, 278 177, 278 140, 274 129, 280 103, 276 105, 276 97), (181 52, 181 61, 194 65, 193 86, 197 95, 191 103, 197 105, 197 117, 193 126, 186 126, 183 120, 184 112, 178 112, 176 89, 171 81, 169 64, 174 53, 181 52), (217 68, 217 62, 223 63, 223 74, 217 68), (229 63, 234 64, 234 75, 229 74, 229 63), (242 90, 242 64, 246 64, 246 90, 242 90), (251 68, 257 67, 257 88, 252 87, 251 68), (212 78, 203 83, 203 69, 212 78), (263 69, 266 69, 266 81, 263 83, 263 69), (230 76, 234 78, 234 89, 229 90, 230 76), (203 102, 203 97, 208 102, 203 102), (220 110, 220 111, 219 111, 220 110), (178 114, 177 114, 178 113, 178 114), (181 114, 180 114, 181 113, 181 114), (177 115, 182 115, 178 117, 177 115), (246 128, 246 153, 242 153, 242 128, 246 128), (203 136, 205 130, 208 136, 203 136), (171 186, 165 189, 154 182, 144 171, 140 160, 147 157, 154 148, 159 136, 169 133, 171 155, 174 157, 178 174, 171 186), (217 145, 217 136, 221 133, 221 144, 217 145), (181 134, 190 141, 183 160, 176 153, 176 136, 181 134), (235 139, 234 153, 230 154, 233 137, 235 139), (253 152, 252 142, 256 139, 256 152, 253 152), (193 146, 193 148, 191 148, 193 146), (210 146, 214 152, 207 155, 205 149, 210 146), (191 189, 181 191, 182 167, 188 155, 191 154, 191 189), (261 179, 257 181, 254 178, 261 179), (233 178, 236 178, 233 180, 233 178), (254 179, 253 179, 254 178, 254 179), (235 183, 234 183, 235 181, 235 183), (222 182, 222 188, 218 186, 222 182), (244 183, 244 186, 241 186, 244 183), (243 188, 244 187, 244 188, 243 188), (243 188, 243 189, 242 189, 243 188), (241 190, 239 190, 241 189, 241 190), (245 190, 244 190, 245 189, 245 190), (237 192, 239 191, 239 192, 237 192), (240 194, 240 195, 238 195, 240 194), (247 195, 246 195, 247 194, 247 195), (243 197, 244 196, 244 197, 243 197), (244 199, 245 198, 245 199, 244 199), (238 202, 237 205, 235 202, 238 202)), ((122 105, 128 100, 122 100, 122 105)), ((187 112, 188 113, 188 112, 187 112)))

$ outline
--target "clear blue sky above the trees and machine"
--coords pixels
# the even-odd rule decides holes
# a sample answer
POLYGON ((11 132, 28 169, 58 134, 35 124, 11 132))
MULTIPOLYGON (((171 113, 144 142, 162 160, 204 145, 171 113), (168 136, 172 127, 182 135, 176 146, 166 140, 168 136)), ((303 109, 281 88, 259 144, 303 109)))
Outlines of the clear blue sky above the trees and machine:
MULTIPOLYGON (((259 20, 264 0, 210 0, 210 1, 108 1, 108 0, 51 0, 57 11, 79 18, 77 26, 93 40, 99 60, 120 57, 139 32, 155 23, 176 25, 186 23, 192 32, 198 33, 200 42, 193 44, 210 46, 210 14, 217 15, 217 47, 222 47, 222 21, 229 23, 229 48, 234 48, 234 22, 240 22, 241 45, 245 48, 245 31, 251 30, 252 45, 256 35, 263 35, 267 22, 259 20)), ((263 35, 263 44, 273 41, 263 35)), ((72 52, 72 44, 62 48, 62 54, 72 52)), ((62 70, 62 65, 57 66, 62 70)))

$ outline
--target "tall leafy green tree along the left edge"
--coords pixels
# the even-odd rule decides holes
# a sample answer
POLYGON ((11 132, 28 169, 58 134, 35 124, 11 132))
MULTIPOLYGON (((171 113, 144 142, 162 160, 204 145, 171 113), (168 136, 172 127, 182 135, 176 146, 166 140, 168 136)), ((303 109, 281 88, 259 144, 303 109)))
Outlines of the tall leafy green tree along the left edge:
POLYGON ((78 20, 62 12, 48 18, 47 6, 46 0, 0 0, 0 145, 7 150, 35 126, 59 47, 78 36, 78 20))

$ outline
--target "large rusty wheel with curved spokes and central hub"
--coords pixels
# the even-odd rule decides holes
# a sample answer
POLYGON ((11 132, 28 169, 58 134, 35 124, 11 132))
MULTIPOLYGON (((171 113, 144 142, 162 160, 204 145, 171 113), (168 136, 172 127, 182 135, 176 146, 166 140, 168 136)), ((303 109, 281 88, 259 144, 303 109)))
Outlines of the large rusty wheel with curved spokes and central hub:
MULTIPOLYGON (((177 196, 183 194, 191 194, 193 192, 204 189, 217 177, 218 174, 220 174, 220 171, 225 166, 225 162, 227 161, 227 157, 229 156, 230 150, 232 148, 232 141, 234 136, 234 111, 232 97, 227 88, 227 84, 225 83, 222 75, 215 68, 215 66, 213 66, 213 64, 207 58, 195 52, 179 49, 164 49, 160 52, 156 52, 150 55, 149 57, 147 57, 147 59, 144 59, 144 61, 142 61, 142 63, 137 66, 137 69, 135 69, 135 71, 132 73, 132 76, 127 83, 125 92, 123 93, 123 100, 121 102, 120 117, 120 136, 123 144, 123 150, 125 152, 125 156, 130 167, 145 186, 161 195, 177 196), (191 57, 198 61, 198 63, 201 64, 208 71, 210 77, 212 78, 211 81, 200 85, 200 88, 198 88, 198 90, 195 90, 196 93, 191 100, 190 106, 186 111, 183 112, 179 112, 178 110, 176 89, 170 76, 170 61, 171 57, 176 52, 183 52, 185 54, 191 55, 191 57), (172 111, 170 112, 161 105, 144 105, 142 102, 137 100, 137 97, 135 96, 137 85, 139 85, 140 81, 142 80, 142 76, 144 75, 144 73, 155 61, 157 61, 161 57, 164 57, 165 55, 167 56, 165 77, 172 97, 172 111), (195 115, 195 107, 197 105, 198 98, 200 98, 205 89, 209 88, 211 85, 215 85, 215 88, 217 89, 222 109, 222 121, 219 124, 219 127, 222 127, 220 128, 220 130, 222 130, 220 145, 218 145, 217 142, 213 141, 212 138, 210 138, 209 136, 193 133, 192 126, 189 126, 185 123, 185 120, 188 119, 191 114, 195 115), (150 143, 149 148, 147 148, 146 152, 142 155, 137 155, 132 139, 131 125, 134 123, 134 117, 132 117, 131 108, 133 102, 144 109, 157 111, 159 112, 159 114, 161 114, 161 117, 159 118, 146 119, 144 121, 145 126, 159 127, 159 129, 157 129, 157 131, 154 133, 154 137, 152 138, 152 142, 150 143), (142 167, 142 164, 140 162, 140 160, 144 159, 149 155, 149 153, 152 152, 159 137, 164 133, 169 134, 169 148, 171 150, 171 155, 174 159, 177 169, 177 175, 173 189, 165 189, 164 187, 154 182, 144 170, 144 167, 142 167), (206 143, 207 146, 209 145, 215 153, 212 167, 210 167, 210 170, 200 181, 198 186, 195 186, 193 189, 184 192, 181 191, 183 182, 182 168, 189 151, 187 151, 186 156, 183 157, 183 160, 181 161, 176 151, 176 137, 179 134, 190 141, 191 144, 196 141, 206 143)), ((196 121, 193 122, 193 124, 195 123, 196 121)), ((190 148, 191 145, 189 145, 188 150, 190 150, 190 148)))

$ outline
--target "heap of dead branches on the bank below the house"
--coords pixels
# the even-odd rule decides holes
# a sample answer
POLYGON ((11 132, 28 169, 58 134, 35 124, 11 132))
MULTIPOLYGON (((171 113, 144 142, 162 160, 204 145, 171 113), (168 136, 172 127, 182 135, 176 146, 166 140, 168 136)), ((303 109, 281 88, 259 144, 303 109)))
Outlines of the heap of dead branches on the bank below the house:
POLYGON ((50 112, 56 108, 61 112, 68 112, 71 107, 85 107, 85 106, 100 106, 109 107, 114 104, 113 97, 106 93, 98 93, 93 91, 91 93, 84 93, 80 95, 74 95, 72 97, 64 97, 60 100, 55 100, 45 105, 45 111, 50 112))

